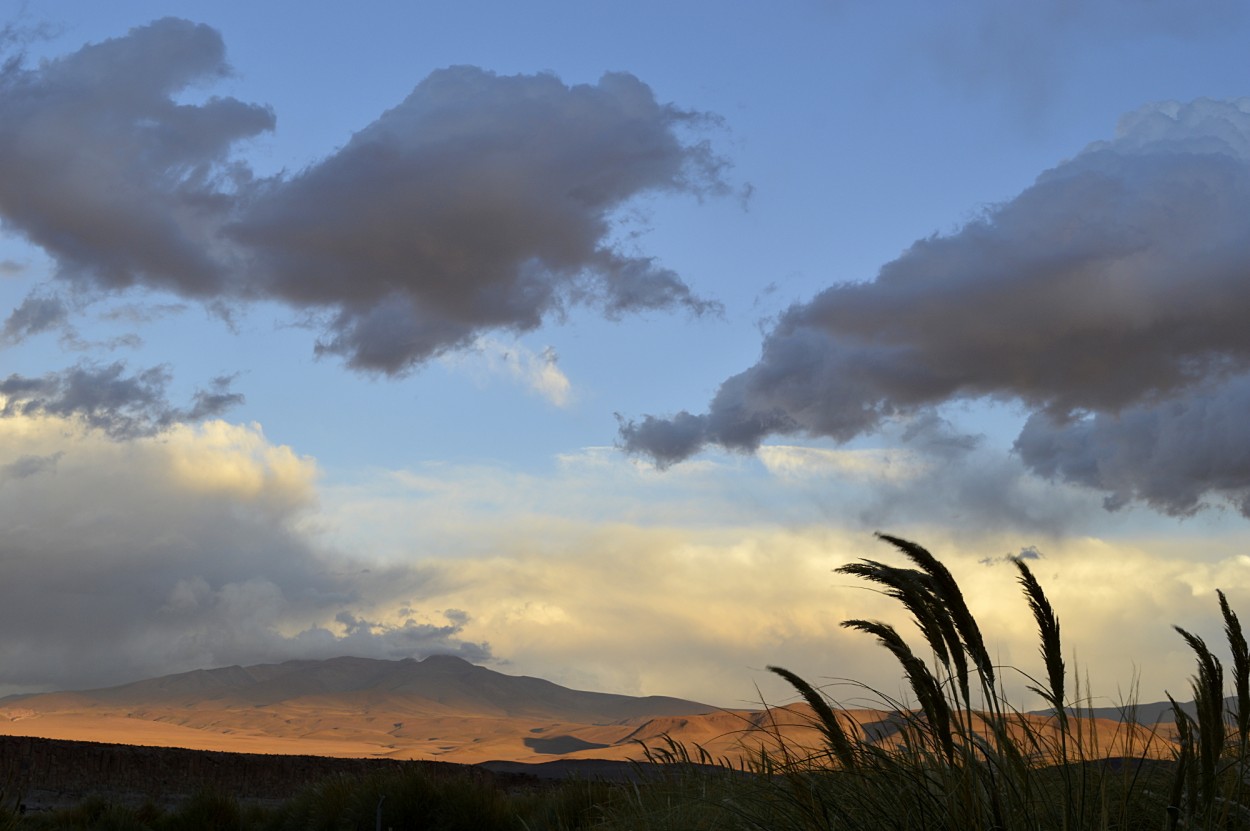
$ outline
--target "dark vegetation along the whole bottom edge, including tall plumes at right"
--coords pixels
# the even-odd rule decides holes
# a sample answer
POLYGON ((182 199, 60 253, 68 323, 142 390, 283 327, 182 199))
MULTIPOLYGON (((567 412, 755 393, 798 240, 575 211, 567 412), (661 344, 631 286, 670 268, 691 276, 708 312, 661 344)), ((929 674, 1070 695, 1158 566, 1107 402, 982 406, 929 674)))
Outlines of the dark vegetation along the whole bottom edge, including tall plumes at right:
MULTIPOLYGON (((391 771, 338 777, 286 804, 262 809, 201 794, 165 810, 88 800, 42 816, 0 816, 5 829, 142 829, 262 831, 378 827, 444 831, 779 830, 779 831, 1178 831, 1250 830, 1250 646, 1218 592, 1231 652, 1224 664, 1201 637, 1176 627, 1192 649, 1194 704, 1172 701, 1175 735, 1134 721, 1126 702, 1110 737, 1062 657, 1060 622, 1024 561, 1016 577, 1032 614, 1041 672, 1026 686, 1044 715, 1014 709, 980 626, 946 567, 921 546, 881 539, 908 561, 861 560, 839 569, 898 600, 920 632, 924 660, 895 627, 875 620, 842 626, 872 636, 896 660, 914 702, 862 689, 888 711, 892 742, 802 677, 771 667, 810 707, 819 746, 798 747, 778 730, 748 761, 712 759, 676 741, 645 749, 632 784, 569 781, 505 787, 470 770, 460 775, 391 771)), ((8 806, 5 806, 8 807, 8 806)))

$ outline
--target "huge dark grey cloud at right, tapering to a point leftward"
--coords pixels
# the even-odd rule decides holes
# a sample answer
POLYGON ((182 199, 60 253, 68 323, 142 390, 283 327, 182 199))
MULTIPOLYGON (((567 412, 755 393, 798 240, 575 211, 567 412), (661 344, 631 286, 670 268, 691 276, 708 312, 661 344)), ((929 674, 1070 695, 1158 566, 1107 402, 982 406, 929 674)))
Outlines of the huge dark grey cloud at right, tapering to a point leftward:
MULTIPOLYGON (((1020 445, 1034 471, 1185 512, 1150 496, 1141 466, 1118 484, 1082 472, 1054 434, 1084 435, 1092 415, 1106 452, 1120 444, 1110 434, 1136 429, 1116 414, 1231 395, 1250 369, 1248 319, 1250 99, 1162 104, 958 232, 915 242, 874 281, 792 306, 708 412, 625 421, 621 444, 662 466, 708 444, 848 441, 946 401, 1009 400, 1036 414, 1020 445)), ((1229 490, 1224 475, 1204 481, 1200 492, 1229 490)))

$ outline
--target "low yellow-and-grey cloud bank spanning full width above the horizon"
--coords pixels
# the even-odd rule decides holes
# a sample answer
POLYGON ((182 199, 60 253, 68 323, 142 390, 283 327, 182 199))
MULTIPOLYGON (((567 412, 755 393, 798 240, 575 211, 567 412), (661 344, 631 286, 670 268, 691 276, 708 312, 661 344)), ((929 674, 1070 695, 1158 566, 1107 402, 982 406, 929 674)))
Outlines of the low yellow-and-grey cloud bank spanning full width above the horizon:
MULTIPOLYGON (((661 476, 588 451, 542 477, 444 464, 346 487, 321 482, 311 459, 256 425, 206 421, 115 441, 71 419, 4 419, 0 690, 448 652, 582 689, 730 706, 791 695, 768 664, 818 684, 836 675, 898 690, 898 667, 838 624, 871 616, 908 632, 905 615, 832 574, 889 551, 798 505, 810 481, 726 475, 742 464, 721 457, 661 476)), ((1014 577, 980 565, 1021 550, 1019 534, 948 526, 939 517, 882 530, 941 556, 995 655, 1034 670, 1035 631, 1014 577)), ((1114 695, 1134 661, 1146 700, 1175 691, 1191 654, 1160 647, 1166 624, 1218 636, 1216 586, 1245 605, 1245 534, 1206 531, 1198 555, 1184 532, 1039 542, 1046 557, 1035 570, 1065 644, 1091 667, 1094 695, 1114 695), (1121 636, 1101 635, 1112 627, 1121 636)))

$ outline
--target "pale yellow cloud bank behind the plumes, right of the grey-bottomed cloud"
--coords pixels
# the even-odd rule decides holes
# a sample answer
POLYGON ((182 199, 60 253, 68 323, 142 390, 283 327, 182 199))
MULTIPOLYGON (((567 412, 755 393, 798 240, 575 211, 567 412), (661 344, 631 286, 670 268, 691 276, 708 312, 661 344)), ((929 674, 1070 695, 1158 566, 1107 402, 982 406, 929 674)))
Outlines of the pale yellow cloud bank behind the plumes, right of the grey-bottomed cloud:
MULTIPOLYGON (((986 471, 980 452, 964 454, 962 477, 970 486, 980 471, 986 492, 1000 489, 1004 480, 986 471)), ((836 676, 899 690, 898 666, 871 639, 838 625, 878 617, 909 639, 914 631, 889 599, 832 572, 859 557, 901 565, 870 530, 828 512, 828 504, 862 490, 858 474, 841 486, 836 475, 821 479, 814 497, 811 479, 792 482, 725 455, 664 475, 598 450, 561 461, 542 477, 448 464, 378 471, 350 490, 324 490, 322 516, 358 540, 374 567, 392 569, 391 584, 409 581, 394 569, 425 552, 421 604, 466 610, 460 637, 489 639, 508 671, 725 706, 792 695, 768 677, 769 664, 818 684, 836 676)), ((1019 476, 1019 460, 1006 461, 1019 476)), ((932 496, 942 482, 916 485, 932 496)), ((1201 529, 1171 525, 1141 539, 1099 539, 1088 529, 1021 537, 1009 524, 961 527, 949 511, 958 502, 951 497, 919 519, 900 511, 876 527, 940 556, 1000 662, 1036 674, 1036 629, 1014 571, 984 565, 1009 551, 1026 557, 1060 615, 1065 651, 1080 655, 1100 701, 1114 704, 1116 684, 1135 674, 1142 700, 1182 690, 1192 654, 1179 639, 1168 649, 1168 624, 1219 637, 1214 589, 1232 592, 1235 609, 1246 605, 1241 524, 1214 517, 1201 529), (1109 639, 1109 631, 1121 635, 1109 639)), ((404 620, 394 607, 360 616, 404 620)), ((1004 677, 1022 702, 1029 681, 1004 677)), ((831 692, 869 696, 850 684, 831 692)))

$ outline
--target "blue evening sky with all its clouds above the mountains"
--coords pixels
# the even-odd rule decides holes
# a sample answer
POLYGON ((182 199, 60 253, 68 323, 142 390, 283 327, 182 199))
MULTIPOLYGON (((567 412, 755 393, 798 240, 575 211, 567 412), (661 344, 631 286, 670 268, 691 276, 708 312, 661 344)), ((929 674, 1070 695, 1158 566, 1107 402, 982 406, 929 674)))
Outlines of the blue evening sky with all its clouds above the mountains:
POLYGON ((1019 690, 1012 556, 1099 705, 1250 614, 1240 2, 0 10, 0 694, 861 704, 878 531, 1019 690))

